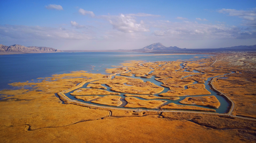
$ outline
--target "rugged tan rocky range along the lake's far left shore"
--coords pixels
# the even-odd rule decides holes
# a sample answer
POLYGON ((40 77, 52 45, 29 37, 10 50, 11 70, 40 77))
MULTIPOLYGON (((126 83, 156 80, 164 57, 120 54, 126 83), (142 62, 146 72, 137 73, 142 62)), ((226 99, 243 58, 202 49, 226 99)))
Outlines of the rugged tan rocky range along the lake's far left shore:
POLYGON ((36 47, 36 46, 25 47, 25 46, 16 45, 16 44, 8 47, 0 44, 0 52, 62 52, 62 51, 54 48, 49 48, 49 47, 36 47))

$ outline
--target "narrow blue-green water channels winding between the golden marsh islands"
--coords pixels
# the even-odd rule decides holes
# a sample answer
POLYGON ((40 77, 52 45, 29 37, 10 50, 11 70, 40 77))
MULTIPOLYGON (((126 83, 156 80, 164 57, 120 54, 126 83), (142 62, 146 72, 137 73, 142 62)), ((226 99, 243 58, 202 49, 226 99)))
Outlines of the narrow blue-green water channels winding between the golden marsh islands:
MULTIPOLYGON (((164 64, 163 64, 164 65, 164 64)), ((160 67, 161 67, 161 65, 159 65, 160 67)), ((183 65, 183 63, 181 63, 180 64, 180 66, 182 67, 182 69, 184 69, 184 65, 183 65)), ((150 71, 149 73, 152 73, 153 71, 150 71)), ((189 71, 187 71, 186 69, 184 70, 184 72, 189 72, 189 71)), ((198 73, 198 71, 192 71, 192 72, 194 72, 194 73, 198 73)), ((201 72, 200 72, 201 73, 201 72)), ((234 73, 234 72, 232 72, 232 73, 234 73)), ((193 74, 194 75, 194 74, 193 74)), ((189 76, 193 76, 193 75, 189 75, 189 76)), ((224 74, 224 75, 226 75, 226 74, 224 74)), ((117 74, 117 76, 121 76, 120 74, 117 74)), ((220 75, 220 76, 223 76, 223 75, 220 75)), ((115 76, 112 76, 112 79, 114 78, 115 76)), ((126 77, 127 78, 127 76, 124 76, 124 77, 126 77)), ((183 77, 183 78, 186 78, 186 77, 188 77, 188 76, 185 76, 185 77, 183 77)), ((208 94, 208 95, 194 95, 194 96, 179 96, 179 100, 167 100, 167 99, 152 99, 152 100, 165 100, 165 101, 167 101, 166 103, 164 103, 163 105, 167 105, 167 104, 169 104, 169 103, 175 103, 175 104, 178 104, 178 105, 184 105, 184 104, 181 104, 181 103, 179 103, 179 101, 181 101, 181 100, 184 100, 184 98, 186 98, 186 97, 198 97, 198 96, 210 96, 210 95, 214 95, 218 100, 219 100, 219 102, 221 103, 221 106, 219 107, 219 109, 214 109, 214 110, 216 110, 216 112, 217 113, 226 113, 227 112, 227 110, 228 110, 228 107, 230 106, 229 105, 229 103, 225 100, 225 98, 223 98, 222 96, 219 96, 219 95, 217 95, 217 93, 215 92, 215 91, 212 91, 211 89, 210 89, 210 85, 208 85, 208 82, 211 80, 211 78, 217 78, 217 77, 219 77, 219 76, 214 76, 214 77, 210 77, 210 78, 208 78, 206 81, 205 81, 205 83, 204 83, 204 85, 205 85, 205 88, 209 91, 209 92, 211 92, 211 94, 208 94)), ((137 77, 137 76, 135 76, 135 74, 133 74, 133 76, 129 76, 128 78, 137 78, 137 79, 141 79, 141 80, 143 80, 144 82, 146 82, 146 81, 150 81, 150 82, 152 82, 152 83, 154 83, 155 85, 158 85, 158 86, 160 86, 160 87, 162 87, 161 86, 161 84, 163 84, 163 83, 161 83, 160 81, 157 81, 157 80, 155 80, 155 76, 152 76, 151 78, 141 78, 141 77, 137 77)), ((197 83, 197 81, 195 81, 193 84, 195 84, 195 83, 197 83)), ((87 88, 87 85, 89 84, 89 82, 88 83, 85 83, 84 85, 83 85, 83 87, 81 87, 81 88, 87 88)), ((126 85, 126 83, 124 83, 124 85, 126 85)), ((108 87, 108 86, 106 86, 105 84, 102 84, 102 86, 104 86, 104 87, 106 87, 107 89, 106 89, 106 91, 109 91, 109 92, 114 92, 114 91, 110 91, 110 89, 111 89, 111 87, 108 87)), ((127 85, 127 86, 130 86, 130 85, 127 85)), ((160 93, 158 93, 158 94, 161 94, 161 93, 164 93, 164 92, 167 92, 167 91, 169 91, 169 88, 167 88, 167 87, 163 87, 164 88, 164 90, 162 91, 162 92, 160 92, 160 93)), ((90 88, 88 88, 88 89, 90 89, 90 88)), ((187 85, 185 86, 185 89, 187 89, 187 85)), ((78 90, 78 89, 76 89, 76 90, 78 90)), ((89 104, 93 104, 93 105, 98 105, 98 106, 104 106, 104 107, 115 107, 115 108, 126 108, 126 107, 124 107, 126 104, 127 104, 127 102, 124 100, 124 98, 126 98, 126 96, 124 96, 124 94, 126 94, 126 93, 121 93, 121 92, 118 92, 118 93, 120 93, 121 95, 118 95, 118 96, 121 96, 122 98, 120 99, 121 101, 122 101, 122 105, 120 105, 119 107, 116 107, 116 106, 109 106, 109 105, 101 105, 101 104, 97 104, 97 103, 91 103, 91 101, 93 101, 93 100, 91 100, 91 101, 83 101, 83 100, 80 100, 80 99, 76 99, 76 98, 74 98, 74 96, 72 96, 72 95, 70 95, 70 93, 72 93, 73 91, 70 91, 70 92, 68 92, 68 93, 65 93, 65 95, 68 97, 68 98, 70 98, 70 100, 77 100, 77 101, 80 101, 80 102, 83 102, 83 103, 89 103, 89 104)), ((158 94, 154 94, 154 96, 158 96, 158 94)), ((134 95, 136 95, 136 94, 134 94, 134 95)), ((137 94, 138 95, 138 94, 137 94)), ((106 96, 106 95, 97 95, 97 96, 106 96)), ((160 97, 160 96, 159 96, 160 97)), ((135 97, 135 98, 138 98, 138 99, 140 99, 140 100, 147 100, 147 99, 143 99, 143 98, 139 98, 139 97, 135 97)), ((97 98, 98 99, 98 98, 97 98)), ((97 99, 95 99, 95 100, 97 100, 97 99)), ((190 105, 190 106, 197 106, 197 107, 204 107, 204 106, 200 106, 200 105, 190 105)), ((208 109, 213 109, 213 108, 210 108, 210 107, 204 107, 204 108, 208 108, 208 109)), ((127 109, 138 109, 138 108, 127 108, 127 109)), ((156 109, 146 109, 146 108, 139 108, 139 109, 145 109, 145 110, 156 110, 156 109)), ((172 110, 174 110, 174 109, 172 109, 172 110)), ((176 109, 177 110, 177 109, 176 109)), ((190 110, 191 111, 191 110, 190 110)))

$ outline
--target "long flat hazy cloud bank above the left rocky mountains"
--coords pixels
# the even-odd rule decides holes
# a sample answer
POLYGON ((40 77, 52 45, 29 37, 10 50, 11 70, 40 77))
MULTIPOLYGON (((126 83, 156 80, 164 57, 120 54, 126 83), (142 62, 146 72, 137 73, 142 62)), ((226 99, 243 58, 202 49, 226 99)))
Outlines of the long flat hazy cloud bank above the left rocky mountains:
POLYGON ((13 39, 39 40, 90 40, 94 37, 83 31, 41 26, 0 25, 0 35, 13 39))

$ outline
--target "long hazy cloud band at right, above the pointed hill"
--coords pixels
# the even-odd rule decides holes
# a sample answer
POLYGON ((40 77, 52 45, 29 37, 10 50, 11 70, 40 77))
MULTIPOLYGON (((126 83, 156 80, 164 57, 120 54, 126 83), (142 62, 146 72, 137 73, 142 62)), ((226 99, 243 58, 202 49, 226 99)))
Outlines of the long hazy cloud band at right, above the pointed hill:
POLYGON ((169 39, 245 39, 255 38, 256 30, 241 29, 225 24, 198 24, 197 22, 163 22, 158 21, 152 25, 157 30, 155 36, 169 39))

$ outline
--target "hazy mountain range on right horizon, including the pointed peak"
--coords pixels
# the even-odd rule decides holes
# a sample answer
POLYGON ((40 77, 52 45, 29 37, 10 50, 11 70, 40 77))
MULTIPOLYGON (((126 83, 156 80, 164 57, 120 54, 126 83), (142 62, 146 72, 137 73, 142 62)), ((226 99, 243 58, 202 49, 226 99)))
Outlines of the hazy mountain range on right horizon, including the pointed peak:
POLYGON ((153 43, 142 49, 135 49, 134 51, 256 51, 256 45, 252 46, 234 46, 226 48, 205 48, 205 49, 182 49, 179 47, 165 47, 162 43, 153 43))

